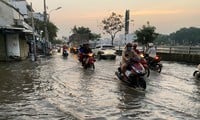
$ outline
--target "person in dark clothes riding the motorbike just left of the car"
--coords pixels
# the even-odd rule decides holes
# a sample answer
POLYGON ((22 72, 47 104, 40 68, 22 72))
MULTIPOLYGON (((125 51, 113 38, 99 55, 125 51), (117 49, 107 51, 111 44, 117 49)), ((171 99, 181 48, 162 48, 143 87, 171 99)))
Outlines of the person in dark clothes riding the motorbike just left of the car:
POLYGON ((89 59, 88 59, 88 54, 92 53, 92 49, 89 47, 89 43, 84 43, 83 44, 83 49, 82 49, 82 65, 87 64, 89 59))

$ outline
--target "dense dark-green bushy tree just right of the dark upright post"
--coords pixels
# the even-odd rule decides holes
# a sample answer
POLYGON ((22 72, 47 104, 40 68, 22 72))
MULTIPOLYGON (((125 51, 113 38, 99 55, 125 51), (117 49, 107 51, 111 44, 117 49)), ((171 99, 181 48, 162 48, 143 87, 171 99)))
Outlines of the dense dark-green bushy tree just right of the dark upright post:
POLYGON ((156 27, 150 26, 149 22, 147 22, 147 25, 142 26, 142 29, 136 30, 136 41, 142 43, 143 45, 153 42, 158 36, 158 33, 156 33, 155 30, 156 27))

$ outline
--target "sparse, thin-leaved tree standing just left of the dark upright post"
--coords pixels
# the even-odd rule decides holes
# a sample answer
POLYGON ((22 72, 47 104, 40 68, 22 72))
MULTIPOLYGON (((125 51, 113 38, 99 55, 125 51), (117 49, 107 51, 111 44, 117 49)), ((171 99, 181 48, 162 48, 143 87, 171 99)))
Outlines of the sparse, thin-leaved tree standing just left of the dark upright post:
POLYGON ((124 28, 123 16, 112 12, 108 18, 102 20, 102 23, 103 30, 111 36, 113 45, 116 34, 124 28))

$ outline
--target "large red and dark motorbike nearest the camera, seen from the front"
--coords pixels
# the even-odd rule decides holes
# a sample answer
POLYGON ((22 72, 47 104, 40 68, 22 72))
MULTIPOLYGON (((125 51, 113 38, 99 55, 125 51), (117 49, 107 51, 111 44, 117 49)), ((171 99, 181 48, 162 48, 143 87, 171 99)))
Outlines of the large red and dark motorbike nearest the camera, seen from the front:
POLYGON ((120 67, 115 74, 121 81, 128 83, 134 88, 146 89, 146 81, 144 79, 145 68, 139 60, 129 60, 125 75, 122 74, 120 67))

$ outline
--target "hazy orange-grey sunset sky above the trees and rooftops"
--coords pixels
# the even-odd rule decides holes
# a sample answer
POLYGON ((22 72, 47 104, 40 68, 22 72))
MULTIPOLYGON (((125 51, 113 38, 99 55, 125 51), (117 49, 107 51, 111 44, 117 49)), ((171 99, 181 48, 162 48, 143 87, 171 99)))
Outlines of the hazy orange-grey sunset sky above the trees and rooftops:
MULTIPOLYGON (((44 11, 44 0, 27 0, 35 12, 44 11)), ((50 21, 58 28, 58 38, 68 37, 76 25, 102 34, 101 21, 112 12, 125 16, 130 11, 132 33, 150 22, 156 32, 170 34, 183 27, 200 28, 200 0, 46 0, 50 21), (59 10, 55 10, 62 7, 59 10)), ((122 32, 124 33, 124 32, 122 32)))

